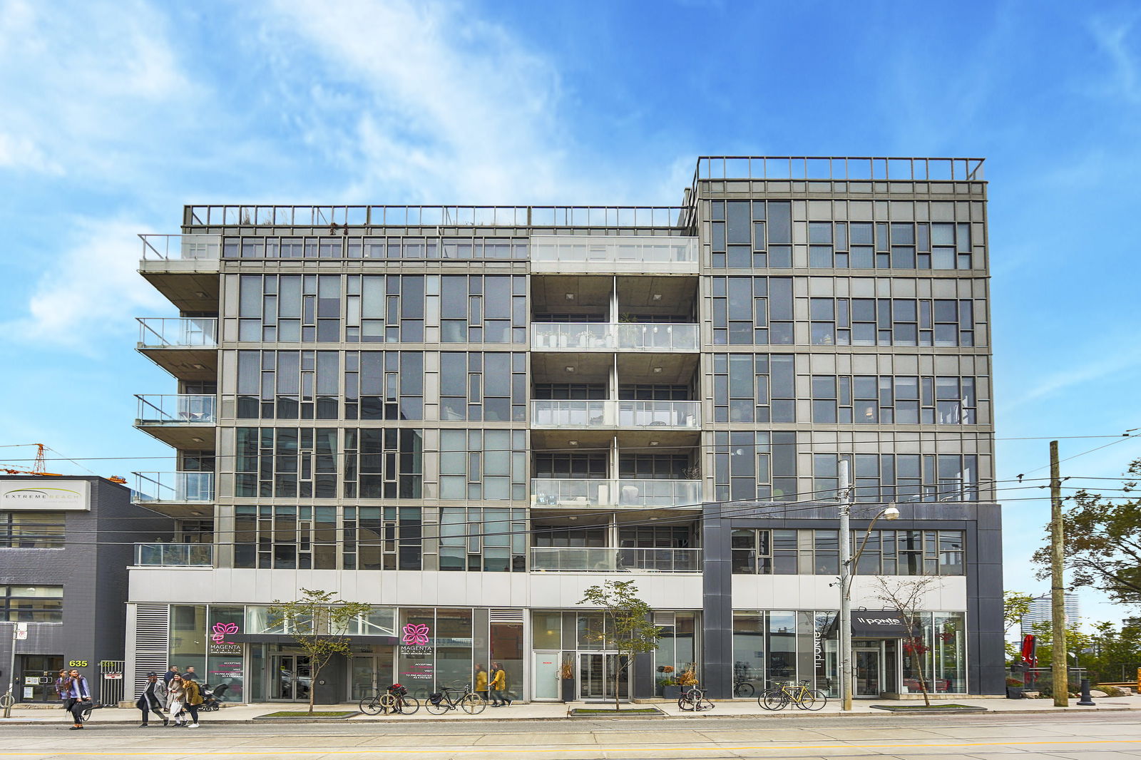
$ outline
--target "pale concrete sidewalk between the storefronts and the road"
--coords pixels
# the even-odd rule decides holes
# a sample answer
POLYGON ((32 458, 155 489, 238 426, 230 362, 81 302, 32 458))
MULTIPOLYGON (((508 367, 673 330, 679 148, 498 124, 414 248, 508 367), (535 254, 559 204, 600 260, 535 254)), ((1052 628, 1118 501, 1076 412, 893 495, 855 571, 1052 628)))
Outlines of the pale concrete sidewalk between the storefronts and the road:
MULTIPOLYGON (((941 701, 946 703, 947 701, 941 701)), ((1112 712, 1122 710, 1139 710, 1141 711, 1141 696, 1128 696, 1128 697, 1098 697, 1094 698, 1097 703, 1092 708, 1079 708, 1077 706, 1077 700, 1070 700, 1070 706, 1066 709, 1066 712, 1112 712)), ((940 702, 934 702, 939 704, 940 702)), ((1060 708, 1054 708, 1052 700, 978 700, 978 698, 963 698, 955 700, 955 704, 965 705, 977 705, 986 708, 990 712, 1002 712, 1002 713, 1038 713, 1038 712, 1051 712, 1060 710, 1060 708)), ((657 703, 639 703, 631 705, 623 705, 623 709, 636 709, 636 708, 647 708, 655 706, 666 713, 667 719, 689 719, 689 720, 704 720, 706 718, 804 718, 810 719, 817 715, 830 715, 837 717, 840 714, 857 714, 857 715, 901 715, 906 713, 892 713, 885 710, 873 710, 874 704, 887 704, 887 705, 908 705, 915 706, 916 704, 922 704, 922 701, 907 700, 907 701, 892 701, 892 700, 859 700, 855 703, 853 710, 850 713, 841 713, 839 700, 828 700, 828 704, 823 709, 815 712, 807 712, 803 710, 795 710, 793 708, 786 708, 785 710, 778 712, 770 712, 764 710, 756 704, 755 700, 731 700, 725 702, 714 702, 715 708, 701 713, 682 712, 678 709, 675 703, 657 702, 657 703)), ((452 711, 443 715, 434 715, 427 710, 421 708, 413 715, 365 715, 357 714, 347 720, 353 722, 410 722, 410 721, 456 721, 456 720, 569 720, 567 718, 567 710, 570 708, 606 708, 605 704, 598 704, 591 702, 590 704, 585 702, 574 702, 570 704, 561 703, 550 703, 550 702, 532 702, 529 704, 524 704, 517 702, 510 708, 497 708, 492 709, 488 706, 478 715, 469 715, 462 711, 452 711)), ((200 713, 200 720, 205 722, 227 722, 227 723, 243 723, 254 720, 259 715, 265 715, 270 712, 278 712, 283 710, 304 711, 306 705, 298 705, 292 703, 283 702, 268 702, 268 703, 256 703, 256 704, 237 704, 234 706, 225 706, 218 712, 202 712, 200 713)), ((317 711, 356 711, 358 710, 356 704, 340 704, 340 705, 316 705, 317 711)), ((928 718, 931 713, 921 713, 921 715, 928 718)), ((976 713, 978 714, 978 713, 976 713)), ((138 710, 127 709, 127 708, 104 708, 95 712, 91 717, 92 723, 137 723, 140 719, 138 710)), ((606 715, 598 715, 597 720, 606 720, 606 715)), ((152 720, 154 720, 152 715, 152 720)), ((3 719, 0 718, 0 722, 6 723, 52 723, 52 722, 68 722, 67 715, 63 710, 44 709, 44 708, 23 708, 21 705, 15 705, 11 711, 11 718, 3 719)), ((161 721, 160 721, 161 722, 161 721)), ((322 721, 324 722, 324 721, 322 721)))

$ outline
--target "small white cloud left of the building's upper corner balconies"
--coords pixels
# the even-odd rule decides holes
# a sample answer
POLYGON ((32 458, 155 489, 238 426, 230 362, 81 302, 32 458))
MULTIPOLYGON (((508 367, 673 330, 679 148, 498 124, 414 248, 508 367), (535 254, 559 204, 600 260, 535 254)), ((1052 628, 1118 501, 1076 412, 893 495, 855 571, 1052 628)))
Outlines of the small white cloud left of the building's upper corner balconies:
POLYGON ((127 332, 132 317, 147 312, 170 310, 136 270, 144 225, 81 219, 70 229, 68 245, 48 265, 29 299, 27 315, 0 325, 5 334, 95 355, 103 351, 98 335, 127 332))

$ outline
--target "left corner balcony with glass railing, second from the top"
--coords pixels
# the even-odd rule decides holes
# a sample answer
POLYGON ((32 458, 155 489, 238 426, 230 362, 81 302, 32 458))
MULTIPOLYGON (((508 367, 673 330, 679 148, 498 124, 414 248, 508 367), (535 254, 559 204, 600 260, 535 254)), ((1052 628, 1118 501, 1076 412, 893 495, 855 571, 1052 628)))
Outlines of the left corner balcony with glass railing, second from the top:
POLYGON ((218 379, 216 317, 139 317, 138 350, 180 380, 218 379))

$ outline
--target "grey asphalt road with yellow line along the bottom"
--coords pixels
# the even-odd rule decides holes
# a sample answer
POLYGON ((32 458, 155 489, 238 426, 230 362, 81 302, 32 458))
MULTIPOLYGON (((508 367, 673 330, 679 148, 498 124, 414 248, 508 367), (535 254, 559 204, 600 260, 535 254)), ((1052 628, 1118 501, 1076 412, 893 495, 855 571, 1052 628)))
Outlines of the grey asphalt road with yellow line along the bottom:
POLYGON ((0 727, 0 758, 411 757, 608 760, 658 758, 932 758, 1118 760, 1141 758, 1139 713, 875 715, 751 719, 698 715, 574 722, 215 725, 200 729, 89 723, 0 727))

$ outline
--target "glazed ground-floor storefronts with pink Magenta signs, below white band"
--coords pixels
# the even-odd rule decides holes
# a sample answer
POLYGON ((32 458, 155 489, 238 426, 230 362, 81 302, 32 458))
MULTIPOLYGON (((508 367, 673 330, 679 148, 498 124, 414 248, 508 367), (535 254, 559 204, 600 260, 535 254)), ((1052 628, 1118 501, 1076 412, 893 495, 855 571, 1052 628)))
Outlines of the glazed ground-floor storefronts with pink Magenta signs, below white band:
MULTIPOLYGON (((148 670, 194 666, 228 702, 307 702, 310 692, 323 704, 356 702, 394 682, 415 696, 443 687, 480 690, 493 663, 505 673, 507 696, 519 701, 606 700, 615 690, 621 698, 669 696, 686 676, 715 680, 714 668, 726 670, 722 682, 731 679, 731 696, 753 697, 786 680, 807 680, 839 696, 836 613, 827 609, 733 611, 731 664, 709 664, 728 658, 706 652, 715 637, 701 611, 654 612, 662 633, 657 648, 629 662, 592 611, 374 607, 347 632, 350 654, 319 673, 267 605, 172 604, 161 612, 131 613, 136 628, 165 628, 137 637, 154 650, 128 652, 128 678, 138 685, 148 670)), ((905 636, 882 629, 861 634, 853 622, 856 696, 924 687, 932 694, 978 693, 968 682, 968 623, 962 611, 929 612, 922 630, 905 636)))

